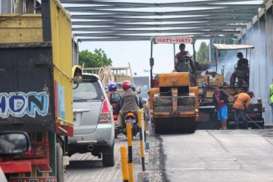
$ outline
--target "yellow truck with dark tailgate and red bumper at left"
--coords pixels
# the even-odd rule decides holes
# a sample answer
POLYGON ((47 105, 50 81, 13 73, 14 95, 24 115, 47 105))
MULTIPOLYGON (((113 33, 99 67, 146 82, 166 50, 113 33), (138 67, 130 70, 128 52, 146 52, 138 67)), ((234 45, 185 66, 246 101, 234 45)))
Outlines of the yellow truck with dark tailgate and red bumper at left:
POLYGON ((39 7, 0 16, 0 168, 11 182, 63 182, 73 135, 70 17, 57 0, 39 7))

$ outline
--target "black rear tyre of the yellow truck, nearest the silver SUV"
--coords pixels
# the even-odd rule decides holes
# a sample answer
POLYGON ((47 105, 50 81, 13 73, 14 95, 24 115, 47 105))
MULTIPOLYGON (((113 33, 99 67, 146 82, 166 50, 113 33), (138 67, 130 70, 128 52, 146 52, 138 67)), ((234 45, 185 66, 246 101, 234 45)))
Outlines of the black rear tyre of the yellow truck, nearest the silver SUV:
POLYGON ((57 182, 64 182, 64 164, 63 164, 63 149, 58 143, 56 146, 56 161, 57 161, 57 182))

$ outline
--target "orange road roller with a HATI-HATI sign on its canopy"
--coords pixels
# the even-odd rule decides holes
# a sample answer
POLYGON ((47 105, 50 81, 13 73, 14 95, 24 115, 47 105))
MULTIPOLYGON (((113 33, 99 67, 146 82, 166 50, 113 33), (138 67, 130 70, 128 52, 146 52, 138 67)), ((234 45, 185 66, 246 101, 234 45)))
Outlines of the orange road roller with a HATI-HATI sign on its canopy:
MULTIPOLYGON (((196 130, 199 115, 198 87, 194 85, 192 81, 193 74, 190 71, 173 71, 153 76, 153 44, 160 43, 173 45, 177 43, 191 44, 192 38, 189 36, 162 36, 155 37, 152 40, 149 108, 155 133, 193 133, 196 130)), ((190 61, 186 62, 190 66, 190 61)))

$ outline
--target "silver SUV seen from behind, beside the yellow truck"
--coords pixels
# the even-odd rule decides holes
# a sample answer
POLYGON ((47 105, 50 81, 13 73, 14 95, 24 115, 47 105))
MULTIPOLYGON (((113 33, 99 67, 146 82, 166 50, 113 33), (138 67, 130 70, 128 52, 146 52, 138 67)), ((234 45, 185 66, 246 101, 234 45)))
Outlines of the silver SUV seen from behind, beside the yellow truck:
POLYGON ((91 152, 104 166, 114 166, 115 125, 112 107, 94 74, 83 74, 73 94, 74 136, 69 138, 69 155, 91 152))

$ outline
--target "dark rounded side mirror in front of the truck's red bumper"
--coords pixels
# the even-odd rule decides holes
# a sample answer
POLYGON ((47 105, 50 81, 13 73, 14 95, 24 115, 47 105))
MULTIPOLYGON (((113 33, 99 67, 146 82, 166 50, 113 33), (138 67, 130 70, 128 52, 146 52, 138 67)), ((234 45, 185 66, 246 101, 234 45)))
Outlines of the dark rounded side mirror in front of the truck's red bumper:
POLYGON ((30 147, 30 139, 25 132, 0 133, 0 155, 20 155, 30 147))

